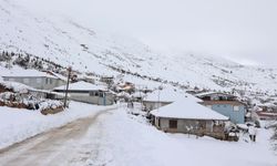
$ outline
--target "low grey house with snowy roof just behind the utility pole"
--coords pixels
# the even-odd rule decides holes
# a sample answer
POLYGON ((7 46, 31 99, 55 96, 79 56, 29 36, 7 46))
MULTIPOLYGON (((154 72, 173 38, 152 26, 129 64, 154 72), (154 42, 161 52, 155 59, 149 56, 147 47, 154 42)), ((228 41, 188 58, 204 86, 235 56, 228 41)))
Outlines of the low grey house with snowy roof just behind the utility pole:
MULTIPOLYGON (((65 93, 66 85, 55 87, 54 92, 65 93)), ((83 81, 69 84, 70 98, 98 105, 112 105, 114 95, 103 85, 95 85, 83 81)))

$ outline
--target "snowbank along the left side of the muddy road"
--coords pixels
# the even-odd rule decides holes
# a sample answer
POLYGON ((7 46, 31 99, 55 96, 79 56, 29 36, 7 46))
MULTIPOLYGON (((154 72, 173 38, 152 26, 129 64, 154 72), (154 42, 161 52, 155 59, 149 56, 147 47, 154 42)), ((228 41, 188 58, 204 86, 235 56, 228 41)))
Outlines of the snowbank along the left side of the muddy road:
POLYGON ((104 108, 107 107, 71 102, 70 108, 66 111, 44 116, 40 112, 0 107, 0 148, 95 114, 104 108))

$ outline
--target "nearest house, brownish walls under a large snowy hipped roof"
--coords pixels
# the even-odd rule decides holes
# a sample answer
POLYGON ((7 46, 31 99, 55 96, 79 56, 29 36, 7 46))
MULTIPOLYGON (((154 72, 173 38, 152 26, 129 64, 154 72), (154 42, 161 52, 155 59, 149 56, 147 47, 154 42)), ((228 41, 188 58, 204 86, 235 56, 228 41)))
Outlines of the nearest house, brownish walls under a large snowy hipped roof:
POLYGON ((193 100, 179 100, 151 112, 153 124, 161 131, 212 136, 224 139, 229 118, 193 100))

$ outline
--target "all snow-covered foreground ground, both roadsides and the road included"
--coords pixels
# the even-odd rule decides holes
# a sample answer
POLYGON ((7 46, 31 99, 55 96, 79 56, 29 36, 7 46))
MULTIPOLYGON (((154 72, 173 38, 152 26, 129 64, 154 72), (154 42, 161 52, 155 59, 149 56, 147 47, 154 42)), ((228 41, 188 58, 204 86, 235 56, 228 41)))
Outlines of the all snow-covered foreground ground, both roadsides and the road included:
MULTIPOLYGON (((256 143, 222 142, 211 137, 196 138, 184 134, 166 134, 157 131, 143 117, 129 114, 132 111, 125 105, 117 106, 119 108, 105 112, 95 118, 72 123, 64 128, 42 134, 11 147, 0 154, 2 159, 0 164, 277 166, 277 157, 270 149, 268 141, 270 131, 259 129, 256 143), (80 125, 86 121, 90 121, 89 129, 84 129, 85 134, 78 134, 78 128, 82 128, 80 125), (49 141, 49 137, 52 139, 49 141)), ((93 115, 99 113, 99 110, 101 107, 72 103, 72 108, 68 112, 42 116, 39 113, 8 111, 2 107, 1 147, 75 118, 93 115)))

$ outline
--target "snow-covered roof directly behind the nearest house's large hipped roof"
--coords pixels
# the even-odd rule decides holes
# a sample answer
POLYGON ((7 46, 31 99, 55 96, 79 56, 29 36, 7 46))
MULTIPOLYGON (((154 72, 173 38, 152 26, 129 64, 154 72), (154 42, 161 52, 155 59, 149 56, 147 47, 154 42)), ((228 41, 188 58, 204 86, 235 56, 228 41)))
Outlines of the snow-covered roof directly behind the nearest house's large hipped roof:
POLYGON ((171 89, 165 89, 158 92, 158 90, 148 93, 146 95, 146 97, 144 98, 144 101, 151 101, 151 102, 155 102, 155 101, 160 101, 160 102, 174 102, 174 101, 178 101, 182 98, 189 98, 192 101, 195 102, 203 102, 202 100, 187 94, 185 92, 181 93, 181 92, 175 92, 174 90, 171 89))

